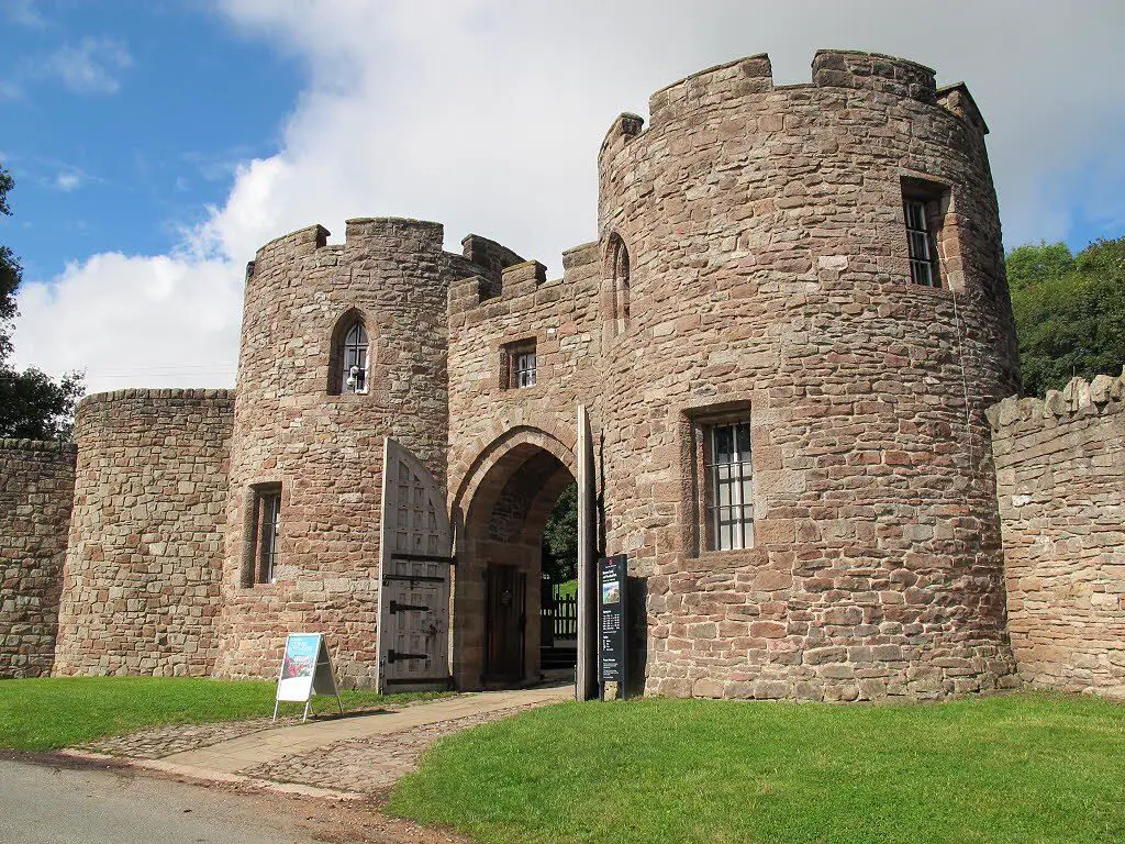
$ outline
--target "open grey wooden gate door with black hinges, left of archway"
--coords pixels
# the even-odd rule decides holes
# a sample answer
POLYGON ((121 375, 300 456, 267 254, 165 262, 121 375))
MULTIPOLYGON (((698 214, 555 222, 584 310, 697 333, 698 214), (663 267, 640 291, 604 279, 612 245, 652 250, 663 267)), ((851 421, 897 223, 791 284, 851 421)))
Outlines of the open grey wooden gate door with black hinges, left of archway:
POLYGON ((451 547, 441 488, 414 455, 388 437, 379 549, 380 692, 450 686, 451 547))

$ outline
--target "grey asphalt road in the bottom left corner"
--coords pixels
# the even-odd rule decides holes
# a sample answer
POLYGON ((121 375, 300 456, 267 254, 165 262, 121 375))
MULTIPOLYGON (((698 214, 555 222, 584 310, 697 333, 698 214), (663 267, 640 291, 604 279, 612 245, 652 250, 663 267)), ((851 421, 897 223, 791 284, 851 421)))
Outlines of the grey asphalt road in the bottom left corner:
POLYGON ((0 844, 323 844, 312 835, 334 808, 128 769, 0 760, 0 844))

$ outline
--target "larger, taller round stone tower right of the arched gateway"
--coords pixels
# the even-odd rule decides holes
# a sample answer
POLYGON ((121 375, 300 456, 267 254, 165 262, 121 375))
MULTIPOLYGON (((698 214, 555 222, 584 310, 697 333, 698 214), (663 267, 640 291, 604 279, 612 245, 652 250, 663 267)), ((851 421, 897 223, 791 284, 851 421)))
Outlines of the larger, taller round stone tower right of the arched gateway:
POLYGON ((1018 374, 988 129, 912 62, 812 75, 703 71, 602 146, 606 550, 646 583, 646 689, 1004 685, 983 410, 1018 374))

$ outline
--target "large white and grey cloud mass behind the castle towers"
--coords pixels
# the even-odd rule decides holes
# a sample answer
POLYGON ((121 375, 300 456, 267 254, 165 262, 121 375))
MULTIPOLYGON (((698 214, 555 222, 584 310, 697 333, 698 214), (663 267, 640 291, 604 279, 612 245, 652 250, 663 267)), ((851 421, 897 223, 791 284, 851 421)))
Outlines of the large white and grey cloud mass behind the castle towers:
POLYGON ((992 128, 1009 245, 1065 236, 1074 214, 1125 213, 1117 149, 1125 5, 1116 0, 950 0, 924 25, 894 0, 216 2, 243 33, 308 69, 278 153, 238 165, 226 200, 186 234, 182 254, 91 259, 53 280, 54 300, 29 286, 17 334, 22 359, 62 367, 52 340, 58 317, 74 320, 76 332, 65 336, 93 388, 125 385, 101 371, 144 360, 137 351, 154 324, 169 367, 232 361, 240 307, 232 290, 244 262, 310 223, 339 240, 349 216, 440 221, 450 249, 478 232, 557 272, 561 250, 596 235, 597 147, 615 115, 646 114, 656 89, 758 52, 771 54, 778 83, 808 81, 821 47, 903 55, 936 68, 939 82, 965 80, 992 128), (145 298, 146 278, 163 278, 169 297, 145 298), (112 320, 108 336, 81 311, 71 316, 94 304, 70 295, 78 284, 112 320), (213 303, 195 296, 199 285, 226 294, 213 303), (183 300, 191 318, 169 320, 168 305, 183 300), (208 318, 222 330, 204 327, 208 318))

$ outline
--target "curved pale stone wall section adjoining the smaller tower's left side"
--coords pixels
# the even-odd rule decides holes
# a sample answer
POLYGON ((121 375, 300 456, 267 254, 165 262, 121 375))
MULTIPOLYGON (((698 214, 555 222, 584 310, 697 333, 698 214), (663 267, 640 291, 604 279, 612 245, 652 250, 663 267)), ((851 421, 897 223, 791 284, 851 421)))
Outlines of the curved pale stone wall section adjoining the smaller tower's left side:
POLYGON ((125 389, 75 416, 57 674, 210 674, 234 395, 125 389))

